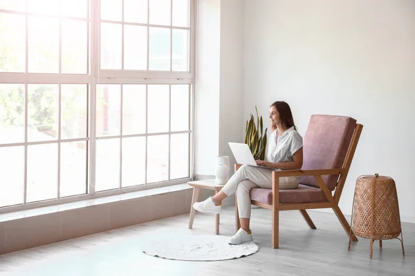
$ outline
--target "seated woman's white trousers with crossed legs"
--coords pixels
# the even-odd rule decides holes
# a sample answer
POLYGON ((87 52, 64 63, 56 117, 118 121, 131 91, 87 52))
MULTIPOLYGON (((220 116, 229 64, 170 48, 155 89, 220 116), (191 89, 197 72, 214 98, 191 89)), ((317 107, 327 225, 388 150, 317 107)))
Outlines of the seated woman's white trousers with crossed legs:
MULTIPOLYGON (((228 197, 237 193, 239 218, 249 219, 251 213, 250 190, 252 188, 273 188, 273 170, 243 165, 237 170, 222 191, 228 197)), ((279 189, 298 187, 297 177, 279 177, 279 189)))

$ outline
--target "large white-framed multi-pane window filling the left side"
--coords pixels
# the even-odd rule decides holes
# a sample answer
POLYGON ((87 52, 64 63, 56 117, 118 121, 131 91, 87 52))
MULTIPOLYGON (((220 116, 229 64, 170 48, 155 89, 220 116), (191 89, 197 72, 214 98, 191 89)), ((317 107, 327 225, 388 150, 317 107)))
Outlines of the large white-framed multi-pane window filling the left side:
POLYGON ((0 0, 0 213, 190 177, 193 0, 0 0))

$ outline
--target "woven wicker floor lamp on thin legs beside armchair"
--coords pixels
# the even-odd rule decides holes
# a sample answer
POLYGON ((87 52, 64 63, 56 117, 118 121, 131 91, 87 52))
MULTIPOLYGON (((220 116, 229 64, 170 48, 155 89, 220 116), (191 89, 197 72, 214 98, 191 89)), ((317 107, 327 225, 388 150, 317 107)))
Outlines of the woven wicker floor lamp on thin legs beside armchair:
MULTIPOLYGON (((383 239, 399 239, 402 235, 396 185, 391 177, 376 175, 360 176, 356 181, 351 228, 356 236, 371 239, 370 258, 373 242, 383 239)), ((403 239, 399 239, 403 248, 403 239)), ((350 239, 349 239, 350 250, 350 239)))

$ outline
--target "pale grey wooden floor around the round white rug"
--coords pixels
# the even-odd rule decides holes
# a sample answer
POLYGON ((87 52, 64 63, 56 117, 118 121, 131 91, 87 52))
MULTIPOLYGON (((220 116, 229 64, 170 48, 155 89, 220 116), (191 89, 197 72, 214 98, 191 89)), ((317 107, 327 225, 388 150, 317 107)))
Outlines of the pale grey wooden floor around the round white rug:
MULTIPOLYGON (((252 210, 252 233, 259 251, 221 262, 182 262, 145 255, 140 244, 164 233, 214 235, 214 215, 196 213, 138 224, 47 246, 0 255, 0 275, 415 275, 415 224, 403 224, 406 256, 397 239, 378 242, 369 259, 369 241, 347 251, 348 237, 335 215, 309 212, 317 230, 298 211, 280 215, 280 248, 270 248, 269 210, 252 210)), ((347 217, 349 220, 350 218, 347 217)), ((223 208, 221 235, 234 233, 234 209, 223 208)))

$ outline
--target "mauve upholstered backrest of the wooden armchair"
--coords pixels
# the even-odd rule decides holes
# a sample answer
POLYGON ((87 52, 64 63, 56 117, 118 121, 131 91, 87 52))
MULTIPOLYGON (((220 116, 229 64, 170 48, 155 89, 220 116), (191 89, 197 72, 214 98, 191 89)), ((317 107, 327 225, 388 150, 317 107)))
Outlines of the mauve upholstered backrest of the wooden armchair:
MULTIPOLYGON (((303 139, 302 170, 342 168, 349 150, 356 119, 335 115, 311 115, 303 139)), ((334 190, 338 175, 324 175, 329 190, 334 190)), ((301 177, 299 183, 318 187, 313 176, 301 177)))

